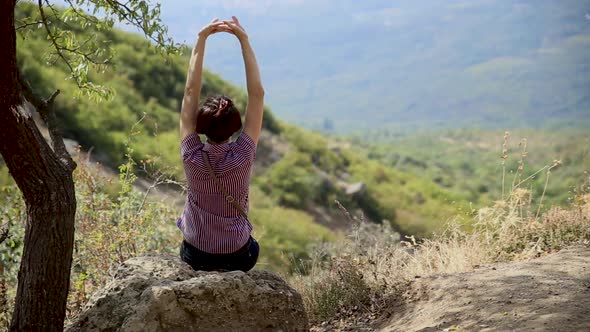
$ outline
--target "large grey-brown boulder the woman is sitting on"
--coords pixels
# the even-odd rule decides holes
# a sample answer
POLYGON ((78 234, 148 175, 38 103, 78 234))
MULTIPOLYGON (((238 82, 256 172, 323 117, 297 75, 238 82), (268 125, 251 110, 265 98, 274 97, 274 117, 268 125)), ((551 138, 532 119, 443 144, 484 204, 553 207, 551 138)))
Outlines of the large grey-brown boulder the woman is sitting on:
POLYGON ((179 258, 123 263, 66 328, 78 331, 307 331, 301 296, 267 271, 193 271, 179 258))

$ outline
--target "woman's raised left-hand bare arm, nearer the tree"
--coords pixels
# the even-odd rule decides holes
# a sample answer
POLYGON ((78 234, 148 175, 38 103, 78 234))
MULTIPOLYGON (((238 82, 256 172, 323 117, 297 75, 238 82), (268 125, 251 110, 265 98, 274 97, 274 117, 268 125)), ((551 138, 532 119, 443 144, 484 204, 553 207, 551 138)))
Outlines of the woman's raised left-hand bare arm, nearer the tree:
POLYGON ((186 85, 182 108, 180 110, 180 139, 183 140, 197 130, 197 107, 201 96, 201 78, 203 76, 203 56, 205 54, 205 41, 207 37, 216 32, 231 32, 227 25, 219 19, 214 19, 199 32, 197 43, 193 48, 191 59, 186 74, 186 85))

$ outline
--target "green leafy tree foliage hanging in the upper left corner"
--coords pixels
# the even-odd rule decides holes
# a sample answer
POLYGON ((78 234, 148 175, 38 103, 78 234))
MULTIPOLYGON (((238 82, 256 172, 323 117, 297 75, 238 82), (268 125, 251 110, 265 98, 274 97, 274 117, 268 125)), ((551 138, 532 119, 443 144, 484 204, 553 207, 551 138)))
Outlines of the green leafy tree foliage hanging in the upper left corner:
POLYGON ((51 44, 49 63, 66 66, 80 92, 93 98, 110 97, 108 86, 96 84, 89 72, 104 71, 112 63, 108 38, 116 22, 139 29, 162 55, 178 54, 179 45, 167 37, 160 19, 160 4, 143 0, 66 0, 66 8, 39 0, 37 5, 20 3, 16 30, 25 39, 45 36, 51 44), (41 31, 39 31, 41 30, 41 31), (106 37, 106 38, 105 38, 106 37))

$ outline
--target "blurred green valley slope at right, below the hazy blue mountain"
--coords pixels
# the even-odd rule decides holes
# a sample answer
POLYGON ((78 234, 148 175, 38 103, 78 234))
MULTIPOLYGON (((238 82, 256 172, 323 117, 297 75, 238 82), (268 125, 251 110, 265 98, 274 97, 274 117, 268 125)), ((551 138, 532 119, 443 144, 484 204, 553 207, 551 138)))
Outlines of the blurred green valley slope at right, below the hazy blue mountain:
POLYGON ((367 151, 367 158, 461 192, 476 206, 501 197, 502 165, 505 188, 528 178, 526 188, 536 200, 544 195, 546 206, 570 203, 590 171, 590 134, 583 129, 522 128, 507 133, 471 128, 396 137, 384 130, 353 141, 367 151))

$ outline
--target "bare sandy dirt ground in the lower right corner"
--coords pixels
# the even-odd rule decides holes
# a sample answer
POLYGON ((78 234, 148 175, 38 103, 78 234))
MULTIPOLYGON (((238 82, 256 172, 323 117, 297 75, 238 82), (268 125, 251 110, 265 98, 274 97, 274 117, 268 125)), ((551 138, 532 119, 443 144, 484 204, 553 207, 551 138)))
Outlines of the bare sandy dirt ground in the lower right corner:
POLYGON ((590 331, 590 247, 412 282, 383 311, 327 331, 590 331))

